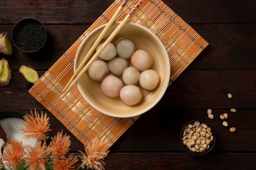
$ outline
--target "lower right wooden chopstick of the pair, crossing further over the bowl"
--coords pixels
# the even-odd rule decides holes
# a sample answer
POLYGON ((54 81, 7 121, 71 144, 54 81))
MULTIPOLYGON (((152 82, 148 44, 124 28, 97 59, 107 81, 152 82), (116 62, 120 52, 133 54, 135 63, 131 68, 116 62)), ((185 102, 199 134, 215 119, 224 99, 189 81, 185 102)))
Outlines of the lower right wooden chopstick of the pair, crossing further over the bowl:
MULTIPOLYGON (((61 95, 61 98, 65 97, 67 93, 71 90, 72 86, 76 84, 77 80, 87 71, 89 66, 96 60, 96 58, 99 56, 99 54, 106 48, 106 46, 113 40, 113 38, 117 35, 117 33, 122 29, 124 24, 128 22, 130 16, 136 11, 136 9, 139 7, 139 5, 143 2, 144 0, 139 0, 139 2, 132 8, 130 13, 126 15, 126 18, 122 20, 122 22, 117 26, 117 28, 111 33, 111 35, 108 37, 108 39, 102 44, 102 46, 99 48, 99 50, 92 56, 92 58, 89 60, 89 62, 83 67, 83 69, 76 75, 76 77, 72 80, 72 82, 65 88, 65 91, 63 90, 63 94, 61 95)), ((94 50, 93 50, 94 51, 94 50)))

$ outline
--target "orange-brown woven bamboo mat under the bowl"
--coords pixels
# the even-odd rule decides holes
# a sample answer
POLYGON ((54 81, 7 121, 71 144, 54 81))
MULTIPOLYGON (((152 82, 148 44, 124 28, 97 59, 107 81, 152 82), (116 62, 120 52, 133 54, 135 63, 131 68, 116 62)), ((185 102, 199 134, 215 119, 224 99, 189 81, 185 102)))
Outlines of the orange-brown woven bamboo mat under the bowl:
MULTIPOLYGON (((98 136, 108 141, 111 146, 139 117, 117 118, 100 113, 85 101, 76 85, 64 99, 59 98, 63 87, 74 73, 74 58, 79 45, 91 31, 108 22, 121 1, 115 0, 29 89, 29 93, 85 145, 98 136)), ((117 20, 123 20, 136 3, 137 0, 128 1, 117 20)), ((145 26, 164 44, 171 64, 169 85, 208 45, 191 26, 161 0, 144 0, 132 15, 130 22, 145 26)))

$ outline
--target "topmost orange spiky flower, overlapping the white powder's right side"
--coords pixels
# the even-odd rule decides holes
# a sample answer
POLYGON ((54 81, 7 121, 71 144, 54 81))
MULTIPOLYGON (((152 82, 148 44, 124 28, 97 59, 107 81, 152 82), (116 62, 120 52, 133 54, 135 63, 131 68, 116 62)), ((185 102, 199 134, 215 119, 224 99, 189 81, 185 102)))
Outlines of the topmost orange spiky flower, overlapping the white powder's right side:
POLYGON ((21 128, 21 130, 23 131, 23 133, 26 133, 25 138, 36 138, 38 140, 45 141, 45 137, 46 135, 48 135, 46 133, 50 131, 49 117, 47 117, 46 114, 43 116, 43 111, 41 112, 40 117, 35 109, 35 113, 33 114, 31 110, 31 115, 25 115, 24 120, 25 121, 23 121, 22 123, 25 125, 25 127, 21 128))

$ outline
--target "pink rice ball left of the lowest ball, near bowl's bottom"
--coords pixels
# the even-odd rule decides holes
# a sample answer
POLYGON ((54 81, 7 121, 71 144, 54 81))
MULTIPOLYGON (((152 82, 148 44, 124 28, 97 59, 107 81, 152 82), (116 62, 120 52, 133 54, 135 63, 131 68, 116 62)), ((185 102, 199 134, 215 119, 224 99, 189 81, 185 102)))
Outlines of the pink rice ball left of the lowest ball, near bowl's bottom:
POLYGON ((117 97, 120 94, 121 89, 124 84, 121 79, 117 78, 115 75, 108 75, 101 82, 101 91, 104 95, 108 97, 117 97))

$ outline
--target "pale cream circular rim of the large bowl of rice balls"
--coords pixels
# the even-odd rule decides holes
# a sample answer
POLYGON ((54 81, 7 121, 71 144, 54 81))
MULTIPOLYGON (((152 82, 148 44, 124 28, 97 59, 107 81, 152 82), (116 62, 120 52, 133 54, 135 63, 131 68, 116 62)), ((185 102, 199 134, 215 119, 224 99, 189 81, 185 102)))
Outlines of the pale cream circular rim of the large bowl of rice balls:
MULTIPOLYGON (((116 21, 114 22, 113 24, 117 24, 117 23, 121 23, 121 21, 116 21)), ((141 29, 144 29, 146 32, 150 33, 152 35, 152 37, 157 40, 157 42, 160 44, 161 48, 163 51, 165 51, 165 57, 164 59, 166 60, 166 62, 168 63, 168 68, 166 70, 166 73, 167 75, 170 77, 170 74, 171 74, 171 66, 170 66, 170 62, 169 62, 169 57, 168 57, 168 53, 164 47, 164 44, 162 43, 161 40, 159 40, 159 38, 152 32, 150 31, 149 29, 145 28, 144 26, 141 26, 137 23, 134 23, 134 22, 127 22, 126 24, 132 24, 132 25, 135 25, 135 26, 139 26, 141 29)), ((89 35, 94 33, 95 31, 101 29, 102 27, 106 26, 106 24, 103 24, 101 26, 98 26, 96 29, 94 29, 92 32, 90 32, 83 40, 83 42, 80 44, 77 52, 76 52, 76 56, 75 56, 75 61, 76 61, 76 58, 78 57, 78 53, 79 51, 81 51, 81 49, 83 48, 83 44, 85 44, 86 40, 88 39, 88 37, 90 37, 89 35)), ((76 71, 76 68, 77 68, 77 62, 74 62, 74 72, 76 71)), ((106 114, 106 115, 109 115, 109 116, 112 116, 112 117, 120 117, 120 118, 127 118, 127 117, 134 117, 134 116, 138 116, 138 115, 141 115, 145 112, 147 112, 148 110, 150 110, 151 108, 153 108, 159 101, 160 99, 162 99, 163 95, 165 94, 166 92, 166 89, 168 87, 168 83, 169 83, 169 79, 166 79, 165 82, 163 83, 164 85, 164 91, 163 93, 158 97, 157 100, 155 100, 155 102, 153 104, 150 105, 150 107, 144 109, 144 110, 141 110, 140 112, 138 113, 134 113, 132 115, 117 115, 117 114, 113 114, 113 113, 109 113, 109 112, 105 112, 104 110, 102 110, 101 108, 98 108, 97 106, 93 106, 93 104, 91 104, 90 102, 90 99, 88 99, 88 97, 86 97, 84 94, 81 93, 80 89, 81 89, 81 86, 79 85, 79 82, 76 82, 77 84, 77 87, 79 89, 79 92, 81 93, 81 95, 84 97, 84 99, 88 102, 88 104, 90 104, 93 108, 95 108, 96 110, 98 110, 99 112, 103 113, 103 114, 106 114)))

